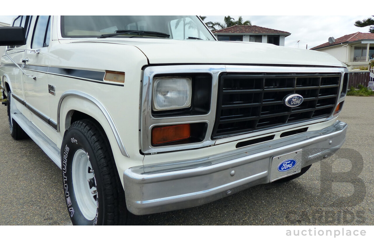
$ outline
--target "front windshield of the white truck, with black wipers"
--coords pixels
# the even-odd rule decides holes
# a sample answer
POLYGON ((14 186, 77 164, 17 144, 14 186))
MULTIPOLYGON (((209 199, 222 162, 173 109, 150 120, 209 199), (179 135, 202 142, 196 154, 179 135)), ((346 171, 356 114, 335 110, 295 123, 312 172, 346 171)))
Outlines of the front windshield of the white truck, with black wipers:
POLYGON ((61 35, 64 38, 104 35, 112 38, 214 40, 197 16, 61 16, 61 35))

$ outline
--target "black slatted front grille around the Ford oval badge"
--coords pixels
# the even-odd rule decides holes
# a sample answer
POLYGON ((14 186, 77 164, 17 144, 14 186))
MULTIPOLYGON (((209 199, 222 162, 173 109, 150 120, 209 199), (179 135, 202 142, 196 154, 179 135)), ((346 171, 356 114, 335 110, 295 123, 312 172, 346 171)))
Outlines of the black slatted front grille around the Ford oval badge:
POLYGON ((212 139, 326 118, 334 111, 340 74, 222 74, 212 139), (291 94, 296 107, 284 105, 291 94))

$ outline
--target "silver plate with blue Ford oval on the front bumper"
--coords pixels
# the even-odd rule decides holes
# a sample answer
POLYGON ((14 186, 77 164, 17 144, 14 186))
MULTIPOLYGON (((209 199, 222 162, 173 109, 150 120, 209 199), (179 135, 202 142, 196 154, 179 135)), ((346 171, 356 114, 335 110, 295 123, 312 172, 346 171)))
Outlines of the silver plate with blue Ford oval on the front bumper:
POLYGON ((270 182, 301 172, 302 150, 288 152, 272 158, 270 182))

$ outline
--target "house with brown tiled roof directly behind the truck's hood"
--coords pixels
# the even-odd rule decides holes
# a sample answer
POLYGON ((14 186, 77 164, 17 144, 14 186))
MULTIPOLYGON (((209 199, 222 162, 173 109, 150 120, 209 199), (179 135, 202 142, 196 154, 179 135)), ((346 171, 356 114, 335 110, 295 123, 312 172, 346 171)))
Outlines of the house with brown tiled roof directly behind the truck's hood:
POLYGON ((272 43, 284 46, 285 37, 291 33, 256 25, 234 25, 212 32, 220 41, 245 41, 272 43))

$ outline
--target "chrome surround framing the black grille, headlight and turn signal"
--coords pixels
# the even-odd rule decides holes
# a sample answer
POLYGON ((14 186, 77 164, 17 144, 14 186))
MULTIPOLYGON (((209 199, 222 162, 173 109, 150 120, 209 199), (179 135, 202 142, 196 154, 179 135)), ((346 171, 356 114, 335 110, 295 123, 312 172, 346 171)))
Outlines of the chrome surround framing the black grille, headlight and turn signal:
MULTIPOLYGON (((214 123, 216 121, 216 108, 218 99, 218 83, 220 76, 224 73, 230 74, 252 74, 252 73, 273 73, 273 74, 319 74, 324 75, 333 73, 335 75, 343 76, 345 72, 348 72, 347 68, 344 67, 300 67, 300 66, 255 66, 255 65, 160 65, 160 66, 148 66, 142 71, 142 82, 140 90, 140 120, 139 120, 139 141, 141 151, 145 154, 152 154, 157 152, 165 151, 178 151, 184 149, 201 148, 204 146, 211 146, 218 143, 226 143, 235 140, 251 138, 254 136, 264 135, 271 132, 278 132, 287 130, 299 126, 307 126, 309 124, 318 123, 322 121, 328 121, 334 118, 332 114, 326 115, 325 117, 318 117, 316 119, 306 119, 301 122, 287 123, 285 126, 272 126, 271 129, 258 129, 254 132, 239 133, 237 135, 227 135, 220 139, 212 138, 214 132, 214 123), (209 73, 212 75, 212 102, 210 111, 205 115, 193 115, 193 116, 177 116, 177 117, 165 117, 155 118, 151 114, 151 101, 152 101, 152 84, 154 75, 168 75, 168 74, 184 74, 184 73, 209 73), (158 125, 170 125, 170 124, 183 124, 183 123, 197 123, 205 122, 208 124, 206 136, 202 142, 183 144, 183 145, 170 145, 162 147, 154 147, 151 145, 151 129, 158 125)), ((339 83, 341 83, 341 78, 339 83)), ((338 86, 338 93, 341 92, 341 84, 338 86)), ((334 109, 338 102, 344 101, 345 96, 339 98, 334 105, 334 109)))

